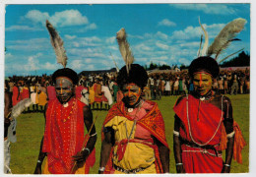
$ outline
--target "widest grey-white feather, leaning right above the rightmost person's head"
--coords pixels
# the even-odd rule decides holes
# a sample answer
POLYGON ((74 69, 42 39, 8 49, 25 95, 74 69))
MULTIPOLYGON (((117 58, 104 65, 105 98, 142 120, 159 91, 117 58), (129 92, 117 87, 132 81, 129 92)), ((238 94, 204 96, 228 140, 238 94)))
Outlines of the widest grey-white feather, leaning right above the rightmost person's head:
POLYGON ((224 51, 224 49, 230 44, 231 41, 236 40, 234 37, 238 32, 240 32, 244 25, 246 24, 246 20, 242 18, 238 18, 228 23, 224 29, 217 35, 214 42, 208 48, 207 55, 211 56, 216 54, 217 57, 224 51))

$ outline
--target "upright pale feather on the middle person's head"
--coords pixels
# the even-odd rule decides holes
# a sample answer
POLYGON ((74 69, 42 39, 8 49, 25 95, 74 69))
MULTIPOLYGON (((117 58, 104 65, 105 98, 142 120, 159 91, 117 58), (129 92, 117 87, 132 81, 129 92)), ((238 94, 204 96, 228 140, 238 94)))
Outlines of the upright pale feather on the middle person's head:
POLYGON ((116 32, 116 39, 119 45, 120 53, 126 65, 127 74, 129 75, 131 64, 134 62, 134 56, 132 54, 132 50, 130 49, 129 43, 126 40, 125 29, 122 28, 116 32))

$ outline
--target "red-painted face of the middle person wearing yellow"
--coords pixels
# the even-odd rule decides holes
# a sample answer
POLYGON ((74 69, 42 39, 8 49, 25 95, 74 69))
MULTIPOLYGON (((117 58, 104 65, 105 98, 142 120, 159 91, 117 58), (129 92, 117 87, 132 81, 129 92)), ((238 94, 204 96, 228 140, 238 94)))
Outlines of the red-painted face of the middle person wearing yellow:
POLYGON ((124 94, 124 100, 129 105, 134 105, 138 102, 142 89, 135 84, 126 84, 123 86, 122 92, 124 94))

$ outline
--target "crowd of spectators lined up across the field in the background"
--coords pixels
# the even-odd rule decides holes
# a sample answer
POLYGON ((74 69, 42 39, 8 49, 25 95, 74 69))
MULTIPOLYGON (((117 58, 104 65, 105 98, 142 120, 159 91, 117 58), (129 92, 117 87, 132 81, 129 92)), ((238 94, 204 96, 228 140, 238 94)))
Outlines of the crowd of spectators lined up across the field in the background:
MULTIPOLYGON (((250 92, 250 71, 221 70, 220 77, 213 81, 213 89, 222 94, 244 94, 250 92)), ((123 98, 116 83, 117 73, 90 74, 80 76, 76 86, 76 97, 90 105, 93 110, 109 110, 113 102, 123 98)), ((25 98, 32 98, 32 107, 25 113, 43 112, 48 100, 56 97, 51 76, 9 77, 6 89, 12 93, 13 106, 25 98)), ((162 96, 177 96, 194 90, 188 71, 174 73, 155 72, 149 74, 148 85, 143 97, 147 100, 160 100, 162 96)))

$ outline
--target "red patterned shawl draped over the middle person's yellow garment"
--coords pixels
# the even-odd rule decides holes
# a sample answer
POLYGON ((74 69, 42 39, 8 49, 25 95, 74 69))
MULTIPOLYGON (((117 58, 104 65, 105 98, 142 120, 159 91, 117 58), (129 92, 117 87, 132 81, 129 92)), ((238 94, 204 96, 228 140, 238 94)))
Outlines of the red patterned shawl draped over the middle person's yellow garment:
MULTIPOLYGON (((162 116, 160 114, 160 109, 158 107, 158 104, 156 102, 153 101, 149 101, 147 100, 145 103, 150 104, 152 106, 152 109, 147 112, 142 118, 140 118, 137 121, 137 126, 141 126, 144 129, 146 129, 147 131, 149 131, 154 137, 156 137, 161 144, 163 144, 166 148, 168 148, 167 142, 166 142, 166 138, 165 138, 165 128, 164 128, 164 122, 162 119, 162 116)), ((112 118, 114 118, 115 116, 122 116, 122 117, 126 117, 129 120, 133 120, 134 118, 130 117, 128 115, 128 113, 125 111, 125 106, 124 103, 121 101, 119 103, 114 104, 111 109, 108 111, 108 114, 106 115, 106 118, 103 122, 103 127, 104 125, 110 121, 112 118)), ((103 129, 102 127, 102 129, 103 129)), ((101 131, 101 140, 104 139, 104 134, 101 131)), ((118 144, 119 148, 119 152, 120 152, 120 156, 118 155, 118 157, 122 157, 121 153, 124 153, 124 148, 125 146, 122 146, 123 144, 125 144, 125 141, 122 141, 121 143, 118 144)), ((148 142, 151 142, 152 140, 130 140, 130 141, 142 141, 144 142, 144 145, 148 145, 148 142)), ((156 155, 156 167, 157 167, 157 172, 158 173, 162 173, 162 167, 161 167, 161 163, 160 163, 160 154, 159 154, 159 149, 156 145, 151 146, 152 148, 155 149, 155 155, 156 155)), ((109 155, 109 159, 107 161, 107 164, 105 166, 105 171, 104 173, 110 173, 110 171, 112 170, 112 150, 111 153, 109 155)))

